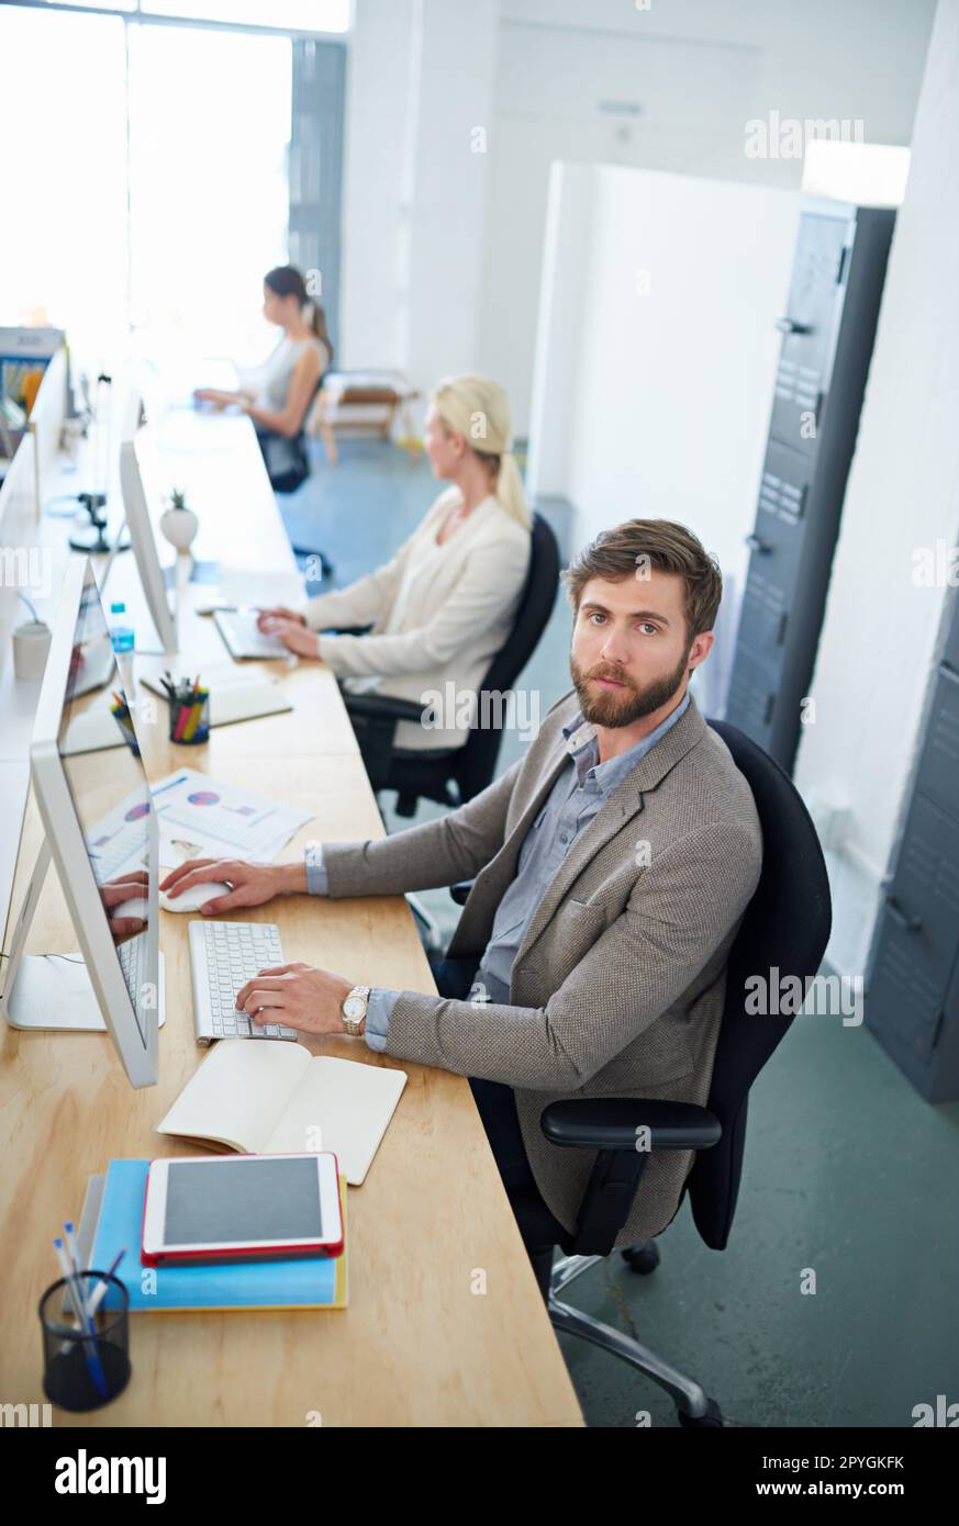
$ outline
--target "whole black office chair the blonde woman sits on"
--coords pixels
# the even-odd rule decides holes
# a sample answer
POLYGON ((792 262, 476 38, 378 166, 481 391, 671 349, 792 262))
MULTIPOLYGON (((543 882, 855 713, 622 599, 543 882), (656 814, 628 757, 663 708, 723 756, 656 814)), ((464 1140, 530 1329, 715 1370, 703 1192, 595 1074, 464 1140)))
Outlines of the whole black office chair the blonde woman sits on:
MULTIPOLYGON (((481 684, 481 693, 507 694, 533 652, 553 613, 559 588, 559 546, 553 530, 533 514, 530 566, 509 639, 496 653, 481 684)), ((476 725, 461 748, 437 748, 421 754, 396 752, 392 739, 397 722, 417 725, 423 705, 388 694, 350 694, 344 702, 374 790, 396 789, 399 816, 415 815, 420 798, 441 806, 460 806, 493 778, 502 726, 476 725)), ((481 714, 481 713, 480 713, 481 714)))

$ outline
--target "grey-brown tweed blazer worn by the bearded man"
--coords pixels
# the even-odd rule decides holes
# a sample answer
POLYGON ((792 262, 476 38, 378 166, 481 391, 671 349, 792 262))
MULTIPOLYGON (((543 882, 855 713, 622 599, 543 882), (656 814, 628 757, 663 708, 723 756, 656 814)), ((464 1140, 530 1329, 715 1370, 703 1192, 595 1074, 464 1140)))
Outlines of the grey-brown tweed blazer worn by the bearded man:
MULTIPOLYGON (((475 877, 449 955, 480 960, 525 833, 568 765, 562 728, 577 710, 563 696, 525 757, 441 819, 324 844, 330 894, 475 877)), ((542 1109, 567 1097, 706 1103, 728 949, 760 864, 750 786, 690 696, 556 871, 516 954, 510 1006, 403 992, 386 1053, 513 1087, 539 1190, 573 1230, 596 1152, 550 1144, 542 1109)), ((669 1224, 692 1164, 692 1151, 654 1152, 617 1245, 669 1224)))

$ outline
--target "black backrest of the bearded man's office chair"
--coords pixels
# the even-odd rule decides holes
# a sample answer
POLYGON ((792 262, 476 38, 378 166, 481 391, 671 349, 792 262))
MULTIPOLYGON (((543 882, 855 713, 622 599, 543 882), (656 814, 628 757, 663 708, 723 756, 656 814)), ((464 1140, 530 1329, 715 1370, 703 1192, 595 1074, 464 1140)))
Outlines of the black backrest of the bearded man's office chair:
POLYGON ((789 1013, 747 1012, 745 981, 760 975, 768 990, 776 969, 780 986, 797 975, 805 990, 806 977, 817 974, 826 952, 832 905, 815 827, 789 775, 736 726, 709 723, 745 775, 762 827, 762 871, 730 949, 707 1102, 722 1125, 722 1138, 698 1152, 686 1183, 699 1235, 713 1250, 722 1250, 739 1195, 750 1087, 793 1022, 789 1013))

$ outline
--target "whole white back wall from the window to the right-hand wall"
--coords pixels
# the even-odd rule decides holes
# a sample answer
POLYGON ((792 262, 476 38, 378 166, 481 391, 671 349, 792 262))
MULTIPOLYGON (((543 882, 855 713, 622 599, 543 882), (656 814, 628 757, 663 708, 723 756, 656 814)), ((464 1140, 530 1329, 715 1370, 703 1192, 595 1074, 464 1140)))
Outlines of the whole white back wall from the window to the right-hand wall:
POLYGON ((550 165, 799 186, 771 110, 907 143, 935 0, 356 0, 337 362, 481 369, 525 435, 550 165), (632 114, 629 108, 638 108, 632 114), (487 153, 470 131, 487 131, 487 153))

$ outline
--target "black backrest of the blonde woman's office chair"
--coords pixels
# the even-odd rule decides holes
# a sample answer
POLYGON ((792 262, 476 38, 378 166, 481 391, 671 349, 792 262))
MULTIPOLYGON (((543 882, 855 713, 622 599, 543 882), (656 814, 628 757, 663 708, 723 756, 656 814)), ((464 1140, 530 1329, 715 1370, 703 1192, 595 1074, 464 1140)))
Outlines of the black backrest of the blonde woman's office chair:
MULTIPOLYGON (((553 613, 559 588, 559 546, 553 530, 542 517, 533 514, 530 534, 530 566, 519 598, 513 629, 490 662, 481 688, 486 693, 505 694, 513 687, 533 656, 536 644, 553 613)), ((502 731, 498 726, 473 726, 469 740, 460 749, 452 765, 452 775, 460 786, 460 798, 472 800, 493 778, 502 731)), ((452 761, 452 760, 450 760, 452 761)))

